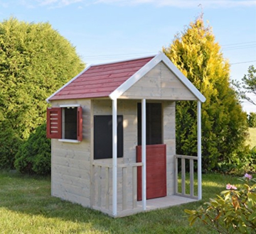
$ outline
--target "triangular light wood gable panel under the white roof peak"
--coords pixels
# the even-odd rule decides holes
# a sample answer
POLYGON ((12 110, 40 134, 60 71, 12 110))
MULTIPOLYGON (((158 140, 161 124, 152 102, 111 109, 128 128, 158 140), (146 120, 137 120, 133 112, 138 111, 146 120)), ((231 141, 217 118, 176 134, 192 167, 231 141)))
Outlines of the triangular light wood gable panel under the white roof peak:
POLYGON ((196 100, 171 70, 159 62, 119 99, 196 100))

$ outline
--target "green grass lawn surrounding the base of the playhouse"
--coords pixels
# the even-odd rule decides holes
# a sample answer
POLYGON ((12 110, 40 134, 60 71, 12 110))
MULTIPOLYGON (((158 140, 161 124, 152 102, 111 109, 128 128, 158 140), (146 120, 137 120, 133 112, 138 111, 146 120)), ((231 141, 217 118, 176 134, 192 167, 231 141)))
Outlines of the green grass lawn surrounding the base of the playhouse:
POLYGON ((203 174, 203 201, 114 219, 51 197, 50 177, 0 171, 0 233, 215 233, 200 222, 189 226, 183 210, 196 209, 228 183, 239 181, 203 174))

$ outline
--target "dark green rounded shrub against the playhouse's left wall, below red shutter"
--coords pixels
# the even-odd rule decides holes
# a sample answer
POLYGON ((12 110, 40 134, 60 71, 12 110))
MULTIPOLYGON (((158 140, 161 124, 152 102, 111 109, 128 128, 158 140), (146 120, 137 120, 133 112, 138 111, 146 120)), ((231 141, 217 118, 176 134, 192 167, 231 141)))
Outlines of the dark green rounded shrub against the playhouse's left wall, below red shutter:
POLYGON ((50 174, 50 139, 46 138, 46 123, 31 133, 15 158, 14 165, 21 173, 50 174))

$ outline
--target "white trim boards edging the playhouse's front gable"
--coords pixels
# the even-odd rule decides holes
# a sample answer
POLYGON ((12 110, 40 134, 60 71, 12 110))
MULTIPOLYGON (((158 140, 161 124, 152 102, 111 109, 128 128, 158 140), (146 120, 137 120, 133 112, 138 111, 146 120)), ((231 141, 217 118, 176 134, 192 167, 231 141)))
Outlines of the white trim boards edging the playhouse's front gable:
POLYGON ((181 82, 196 96, 196 98, 201 101, 205 102, 206 98, 201 94, 196 87, 186 78, 182 72, 169 60, 169 57, 164 55, 163 52, 159 53, 159 55, 156 55, 152 60, 150 60, 144 67, 139 69, 135 74, 132 75, 129 79, 127 79, 126 82, 121 84, 117 89, 112 91, 110 94, 110 99, 118 99, 119 96, 124 94, 125 91, 127 91, 132 85, 134 85, 139 79, 141 79, 147 72, 149 72, 153 67, 155 67, 159 62, 164 62, 164 64, 171 70, 171 72, 174 72, 178 79, 181 80, 181 82))

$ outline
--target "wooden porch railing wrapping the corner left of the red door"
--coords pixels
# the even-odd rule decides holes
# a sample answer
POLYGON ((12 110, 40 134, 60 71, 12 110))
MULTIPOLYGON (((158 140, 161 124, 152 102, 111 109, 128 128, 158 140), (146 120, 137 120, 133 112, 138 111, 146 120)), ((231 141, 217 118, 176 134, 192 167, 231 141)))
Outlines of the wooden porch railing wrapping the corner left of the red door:
MULTIPOLYGON (((142 162, 117 165, 117 216, 142 209, 137 207, 137 167, 142 167, 142 165, 142 162), (120 184, 122 186, 119 186, 120 184)), ((112 164, 92 163, 91 188, 92 207, 111 216, 112 164)))

